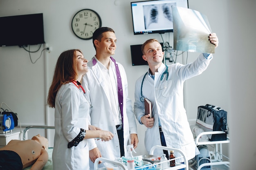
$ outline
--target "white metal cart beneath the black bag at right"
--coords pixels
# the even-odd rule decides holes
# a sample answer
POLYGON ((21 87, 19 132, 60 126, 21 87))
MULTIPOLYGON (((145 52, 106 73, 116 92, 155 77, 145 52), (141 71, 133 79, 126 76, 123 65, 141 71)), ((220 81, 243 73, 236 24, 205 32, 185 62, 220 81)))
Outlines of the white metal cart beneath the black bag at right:
MULTIPOLYGON (((210 135, 210 134, 221 134, 225 133, 223 131, 212 131, 212 132, 202 132, 200 133, 196 139, 195 139, 195 144, 197 146, 200 145, 206 145, 206 146, 212 146, 214 148, 213 151, 210 151, 211 153, 211 162, 210 163, 202 163, 196 170, 204 170, 203 167, 205 166, 212 166, 212 170, 214 169, 223 169, 223 170, 229 170, 229 161, 223 161, 223 157, 225 157, 227 160, 229 160, 228 157, 223 155, 222 153, 222 144, 227 144, 229 143, 229 137, 227 137, 227 140, 224 141, 199 141, 200 137, 202 135, 210 135)), ((189 168, 190 170, 194 170, 194 166, 189 168)))

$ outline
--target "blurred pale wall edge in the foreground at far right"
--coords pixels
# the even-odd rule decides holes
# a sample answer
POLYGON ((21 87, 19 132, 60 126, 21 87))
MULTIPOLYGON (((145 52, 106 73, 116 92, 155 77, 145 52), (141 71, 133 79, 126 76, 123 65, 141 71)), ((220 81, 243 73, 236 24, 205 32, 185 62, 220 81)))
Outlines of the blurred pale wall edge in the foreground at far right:
POLYGON ((229 7, 229 75, 232 137, 231 170, 255 169, 256 160, 256 1, 234 0, 229 7))

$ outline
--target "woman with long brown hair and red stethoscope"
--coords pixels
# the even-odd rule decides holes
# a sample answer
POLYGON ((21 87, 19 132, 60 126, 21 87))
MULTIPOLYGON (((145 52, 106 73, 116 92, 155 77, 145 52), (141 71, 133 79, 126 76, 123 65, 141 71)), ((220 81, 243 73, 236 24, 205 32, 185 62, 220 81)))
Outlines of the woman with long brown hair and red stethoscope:
POLYGON ((89 170, 87 139, 109 141, 114 136, 89 125, 90 104, 80 83, 88 72, 87 62, 79 49, 72 49, 61 53, 55 66, 47 98, 47 104, 55 108, 54 170, 89 170))

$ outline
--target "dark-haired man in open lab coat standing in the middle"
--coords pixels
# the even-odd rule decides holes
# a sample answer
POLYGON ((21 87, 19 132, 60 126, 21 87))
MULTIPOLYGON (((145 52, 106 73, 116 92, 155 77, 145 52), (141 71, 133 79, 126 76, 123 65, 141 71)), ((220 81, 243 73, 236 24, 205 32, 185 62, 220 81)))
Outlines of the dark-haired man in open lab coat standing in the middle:
POLYGON ((87 64, 89 71, 83 75, 82 86, 86 91, 85 97, 91 102, 91 124, 109 130, 114 137, 108 142, 89 142, 90 168, 93 168, 91 165, 97 157, 115 159, 124 156, 129 137, 134 148, 138 144, 126 73, 124 67, 111 57, 117 43, 115 31, 101 27, 94 31, 92 40, 96 55, 87 64))

